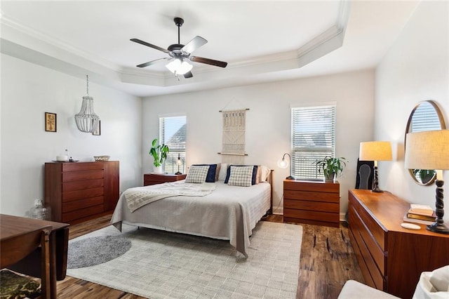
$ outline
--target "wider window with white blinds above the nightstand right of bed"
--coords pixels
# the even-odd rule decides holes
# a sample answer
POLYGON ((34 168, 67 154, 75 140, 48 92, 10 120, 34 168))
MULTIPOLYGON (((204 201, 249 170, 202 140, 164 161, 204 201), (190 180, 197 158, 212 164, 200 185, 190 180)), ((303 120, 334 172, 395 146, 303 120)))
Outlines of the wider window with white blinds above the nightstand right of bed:
POLYGON ((315 162, 335 157, 335 105, 294 107, 291 125, 293 176, 323 178, 315 162))

